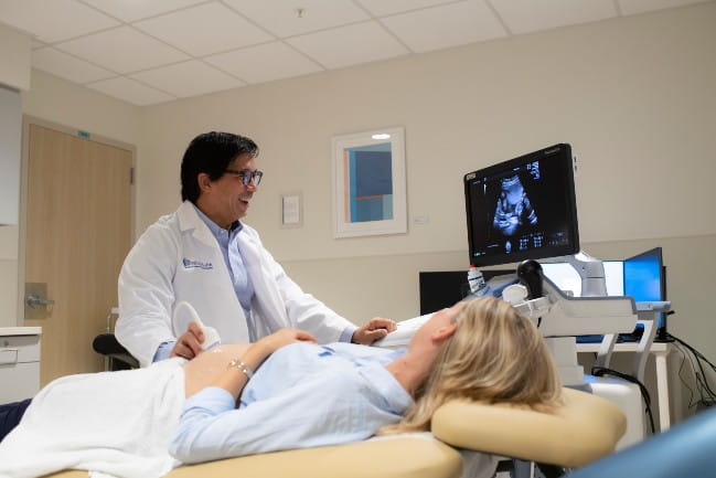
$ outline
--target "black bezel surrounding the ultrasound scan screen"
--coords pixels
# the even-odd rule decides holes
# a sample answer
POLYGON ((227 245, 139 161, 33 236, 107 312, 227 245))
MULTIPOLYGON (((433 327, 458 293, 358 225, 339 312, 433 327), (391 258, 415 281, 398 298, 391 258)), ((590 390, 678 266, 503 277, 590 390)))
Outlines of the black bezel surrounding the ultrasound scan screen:
POLYGON ((468 247, 470 264, 477 267, 495 266, 502 264, 514 264, 524 259, 542 259, 547 257, 562 257, 579 252, 579 226, 577 222, 577 200, 575 194, 575 177, 574 177, 574 162, 571 157, 571 146, 569 144, 557 144, 547 148, 539 149, 516 158, 489 166, 487 168, 478 169, 475 171, 464 174, 462 178, 464 189, 464 203, 466 203, 466 219, 468 226, 468 247), (512 252, 510 254, 499 254, 492 256, 475 257, 474 238, 472 236, 471 217, 472 204, 470 201, 469 188, 470 181, 479 177, 494 176, 503 171, 507 171, 530 162, 544 160, 545 158, 554 157, 555 160, 560 161, 562 171, 566 178, 565 184, 565 201, 567 205, 567 226, 568 234, 571 237, 569 244, 558 246, 546 246, 538 249, 530 249, 524 252, 512 252))

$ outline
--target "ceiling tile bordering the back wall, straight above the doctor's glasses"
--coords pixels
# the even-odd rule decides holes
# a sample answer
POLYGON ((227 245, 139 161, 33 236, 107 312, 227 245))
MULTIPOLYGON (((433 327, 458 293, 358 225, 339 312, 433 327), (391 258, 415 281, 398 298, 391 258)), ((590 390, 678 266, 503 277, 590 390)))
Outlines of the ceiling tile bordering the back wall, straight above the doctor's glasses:
POLYGON ((271 82, 322 71, 318 64, 282 42, 220 53, 204 61, 248 83, 271 82))

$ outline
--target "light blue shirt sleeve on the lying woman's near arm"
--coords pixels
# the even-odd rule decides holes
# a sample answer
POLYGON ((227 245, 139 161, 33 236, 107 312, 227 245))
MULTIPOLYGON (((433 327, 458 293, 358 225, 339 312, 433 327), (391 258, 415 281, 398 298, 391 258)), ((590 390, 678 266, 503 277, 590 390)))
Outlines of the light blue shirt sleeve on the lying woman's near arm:
POLYGON ((362 373, 327 371, 241 408, 225 390, 204 389, 185 402, 170 453, 201 463, 368 438, 413 403, 384 368, 376 369, 370 382, 362 373))

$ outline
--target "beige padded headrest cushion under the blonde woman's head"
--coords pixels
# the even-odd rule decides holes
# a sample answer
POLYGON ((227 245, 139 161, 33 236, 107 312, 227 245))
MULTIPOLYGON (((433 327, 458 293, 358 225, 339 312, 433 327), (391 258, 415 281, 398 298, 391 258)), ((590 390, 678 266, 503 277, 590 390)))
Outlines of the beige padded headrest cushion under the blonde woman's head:
POLYGON ((432 415, 432 434, 452 446, 569 468, 612 453, 627 429, 619 407, 586 392, 563 393, 554 413, 450 402, 432 415))

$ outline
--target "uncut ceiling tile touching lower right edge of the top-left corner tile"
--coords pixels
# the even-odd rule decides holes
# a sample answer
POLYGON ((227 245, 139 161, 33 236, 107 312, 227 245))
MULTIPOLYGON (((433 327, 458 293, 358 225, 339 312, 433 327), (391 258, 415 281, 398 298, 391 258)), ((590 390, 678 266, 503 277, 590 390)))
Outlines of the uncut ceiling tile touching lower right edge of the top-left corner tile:
POLYGON ((148 70, 189 59, 184 53, 131 26, 119 26, 55 46, 119 73, 148 70))

